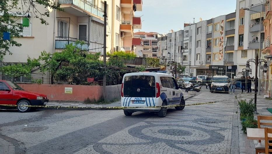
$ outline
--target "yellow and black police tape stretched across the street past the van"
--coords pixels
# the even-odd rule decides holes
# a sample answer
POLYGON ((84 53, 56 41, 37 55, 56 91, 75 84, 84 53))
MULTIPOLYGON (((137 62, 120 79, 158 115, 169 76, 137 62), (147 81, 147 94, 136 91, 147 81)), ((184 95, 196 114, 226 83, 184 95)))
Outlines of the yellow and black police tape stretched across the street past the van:
MULTIPOLYGON (((254 95, 250 94, 250 95, 254 95)), ((242 97, 247 97, 246 96, 241 96, 241 97, 236 97, 234 99, 242 98, 242 97)), ((37 105, 20 105, 20 106, 26 106, 26 107, 39 107, 39 108, 99 108, 99 109, 125 109, 125 108, 161 108, 161 107, 179 107, 179 106, 197 106, 197 105, 203 105, 203 104, 213 104, 213 103, 218 103, 222 101, 229 101, 232 99, 226 99, 226 100, 221 100, 221 101, 210 101, 210 102, 205 102, 205 103, 194 103, 194 104, 187 104, 187 105, 166 105, 166 106, 142 106, 142 107, 133 107, 133 106, 97 106, 97 107, 76 107, 76 106, 37 106, 37 105)), ((7 106, 7 107, 16 107, 18 105, 11 105, 11 104, 1 104, 0 106, 7 106)))

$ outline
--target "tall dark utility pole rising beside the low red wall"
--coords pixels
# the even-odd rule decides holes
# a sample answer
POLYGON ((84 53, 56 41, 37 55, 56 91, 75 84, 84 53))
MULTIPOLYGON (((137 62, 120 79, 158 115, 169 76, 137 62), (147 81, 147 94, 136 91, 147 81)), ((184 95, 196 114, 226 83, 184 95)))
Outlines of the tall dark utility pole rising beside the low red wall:
POLYGON ((103 76, 103 99, 106 99, 106 49, 107 49, 107 1, 104 1, 104 76, 103 76))

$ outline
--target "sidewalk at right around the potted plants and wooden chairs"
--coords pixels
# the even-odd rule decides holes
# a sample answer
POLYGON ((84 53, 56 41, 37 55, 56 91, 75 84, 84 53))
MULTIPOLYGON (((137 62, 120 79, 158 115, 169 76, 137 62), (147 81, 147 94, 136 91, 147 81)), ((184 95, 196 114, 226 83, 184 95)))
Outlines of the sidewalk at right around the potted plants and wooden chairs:
MULTIPOLYGON (((239 94, 242 98, 249 101, 250 99, 254 99, 254 94, 249 95, 248 93, 245 94, 239 94)), ((240 97, 240 96, 238 96, 240 97)), ((238 102, 237 102, 238 103, 238 102)), ((253 100, 254 103, 254 100, 253 100)), ((270 112, 268 112, 267 108, 272 108, 272 101, 265 99, 264 95, 257 95, 257 112, 258 115, 272 115, 270 112)), ((247 135, 243 134, 242 125, 240 122, 240 112, 238 114, 238 126, 239 126, 239 151, 240 154, 255 154, 255 145, 257 145, 257 140, 251 140, 247 139, 247 135)), ((257 120, 257 115, 254 115, 254 118, 257 120)))

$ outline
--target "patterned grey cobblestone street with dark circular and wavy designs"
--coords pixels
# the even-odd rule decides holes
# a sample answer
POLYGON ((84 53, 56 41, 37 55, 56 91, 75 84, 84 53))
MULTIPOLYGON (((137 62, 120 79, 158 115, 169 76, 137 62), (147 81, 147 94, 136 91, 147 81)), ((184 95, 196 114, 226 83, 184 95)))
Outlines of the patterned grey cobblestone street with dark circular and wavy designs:
POLYGON ((234 95, 200 92, 186 100, 221 101, 154 113, 122 110, 0 111, 0 138, 22 154, 229 154, 239 153, 234 95), (226 100, 226 101, 221 101, 226 100), (5 118, 3 118, 5 117, 5 118))

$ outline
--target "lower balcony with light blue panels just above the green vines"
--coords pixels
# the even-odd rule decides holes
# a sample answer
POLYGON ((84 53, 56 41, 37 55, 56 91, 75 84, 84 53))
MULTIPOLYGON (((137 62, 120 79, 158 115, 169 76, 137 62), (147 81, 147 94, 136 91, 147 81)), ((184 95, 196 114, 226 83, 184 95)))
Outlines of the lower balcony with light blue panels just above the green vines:
MULTIPOLYGON (((72 37, 56 37, 55 40, 55 49, 65 49, 66 45, 68 44, 75 44, 75 42, 79 40, 78 38, 72 38, 72 37)), ((79 41, 83 41, 83 40, 79 40, 79 41)), ((81 49, 88 49, 89 47, 89 41, 84 41, 84 44, 78 45, 78 48, 81 49)))

